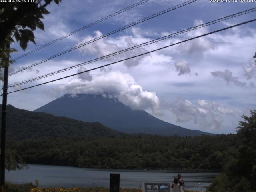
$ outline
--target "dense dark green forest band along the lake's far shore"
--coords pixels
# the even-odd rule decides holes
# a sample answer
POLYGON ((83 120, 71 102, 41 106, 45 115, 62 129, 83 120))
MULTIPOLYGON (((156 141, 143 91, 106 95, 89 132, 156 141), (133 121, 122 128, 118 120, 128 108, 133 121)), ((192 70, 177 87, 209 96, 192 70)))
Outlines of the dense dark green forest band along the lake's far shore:
POLYGON ((221 170, 236 135, 54 138, 8 143, 27 163, 84 168, 221 170), (204 143, 208 146, 205 150, 204 143), (225 147, 223 147, 225 146, 225 147), (211 163, 214 162, 214 163, 211 163))

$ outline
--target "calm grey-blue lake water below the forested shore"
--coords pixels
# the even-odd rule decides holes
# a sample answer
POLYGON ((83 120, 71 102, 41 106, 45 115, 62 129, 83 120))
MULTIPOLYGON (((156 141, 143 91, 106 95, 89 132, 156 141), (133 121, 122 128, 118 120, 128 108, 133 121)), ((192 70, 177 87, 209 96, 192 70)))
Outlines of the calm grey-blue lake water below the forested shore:
MULTIPOLYGON (((6 171, 6 181, 22 184, 39 181, 40 187, 109 187, 110 173, 120 174, 120 187, 141 188, 142 182, 172 182, 177 172, 155 170, 109 170, 86 169, 67 166, 28 164, 28 169, 6 171)), ((196 190, 198 183, 202 191, 209 186, 218 173, 180 172, 185 189, 196 190)), ((199 188, 199 186, 198 186, 199 188)))

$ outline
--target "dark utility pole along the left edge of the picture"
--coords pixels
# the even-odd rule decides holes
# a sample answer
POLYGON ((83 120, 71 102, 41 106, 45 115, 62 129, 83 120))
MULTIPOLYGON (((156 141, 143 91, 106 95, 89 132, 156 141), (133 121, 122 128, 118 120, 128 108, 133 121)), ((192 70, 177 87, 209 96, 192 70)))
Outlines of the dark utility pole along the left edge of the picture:
POLYGON ((7 87, 8 87, 8 70, 10 58, 10 42, 6 43, 8 50, 8 59, 4 67, 4 86, 3 86, 3 104, 2 104, 2 125, 1 125, 1 154, 0 154, 0 192, 4 192, 5 184, 5 131, 6 131, 6 105, 7 105, 7 87))

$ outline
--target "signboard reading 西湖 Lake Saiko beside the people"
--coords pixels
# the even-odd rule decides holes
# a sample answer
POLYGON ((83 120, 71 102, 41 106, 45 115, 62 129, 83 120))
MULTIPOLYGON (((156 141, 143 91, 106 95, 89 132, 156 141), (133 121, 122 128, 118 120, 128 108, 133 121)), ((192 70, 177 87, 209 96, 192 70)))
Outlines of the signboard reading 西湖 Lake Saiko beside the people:
POLYGON ((170 192, 170 183, 142 183, 142 192, 170 192))

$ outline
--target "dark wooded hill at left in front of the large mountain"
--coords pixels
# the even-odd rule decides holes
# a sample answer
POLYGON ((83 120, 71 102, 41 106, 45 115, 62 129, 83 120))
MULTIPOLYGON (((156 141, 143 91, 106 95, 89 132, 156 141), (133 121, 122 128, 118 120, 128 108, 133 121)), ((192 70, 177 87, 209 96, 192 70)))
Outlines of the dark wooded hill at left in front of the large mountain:
MULTIPOLYGON (((0 109, 2 109, 2 105, 0 105, 0 109)), ((83 122, 46 113, 21 110, 12 105, 7 106, 6 136, 14 140, 59 137, 83 138, 84 136, 123 137, 127 135, 98 122, 83 122)))

